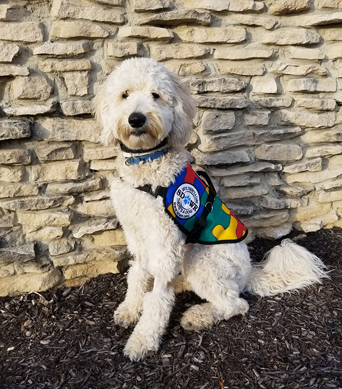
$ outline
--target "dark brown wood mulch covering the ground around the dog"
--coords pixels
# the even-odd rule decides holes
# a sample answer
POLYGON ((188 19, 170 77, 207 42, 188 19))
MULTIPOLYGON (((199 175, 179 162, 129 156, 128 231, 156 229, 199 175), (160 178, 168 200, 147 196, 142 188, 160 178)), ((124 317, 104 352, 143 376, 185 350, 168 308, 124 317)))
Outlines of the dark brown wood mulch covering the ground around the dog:
MULTIPOLYGON (((342 230, 291 236, 328 265, 331 280, 293 295, 246 295, 244 317, 199 332, 179 318, 200 299, 179 295, 160 350, 142 362, 122 353, 132 328, 113 322, 125 274, 0 298, 0 388, 342 388, 342 230)), ((276 244, 257 238, 253 259, 276 244)))

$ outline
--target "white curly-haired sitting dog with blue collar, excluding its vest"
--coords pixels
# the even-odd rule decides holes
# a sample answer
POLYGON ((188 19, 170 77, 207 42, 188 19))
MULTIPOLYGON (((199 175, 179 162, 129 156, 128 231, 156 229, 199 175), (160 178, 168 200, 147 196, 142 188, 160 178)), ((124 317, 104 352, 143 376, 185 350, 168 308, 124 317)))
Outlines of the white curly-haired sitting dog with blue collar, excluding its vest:
POLYGON ((184 328, 201 329, 244 315, 249 308, 239 297, 244 290, 268 296, 327 277, 321 260, 289 239, 254 265, 244 242, 186 244, 155 193, 172 184, 191 160, 184 145, 195 106, 188 89, 163 65, 148 58, 124 61, 97 93, 95 113, 103 143, 123 150, 111 198, 135 261, 114 318, 125 327, 138 322, 124 350, 131 360, 158 349, 175 293, 193 290, 207 301, 181 319, 184 328))

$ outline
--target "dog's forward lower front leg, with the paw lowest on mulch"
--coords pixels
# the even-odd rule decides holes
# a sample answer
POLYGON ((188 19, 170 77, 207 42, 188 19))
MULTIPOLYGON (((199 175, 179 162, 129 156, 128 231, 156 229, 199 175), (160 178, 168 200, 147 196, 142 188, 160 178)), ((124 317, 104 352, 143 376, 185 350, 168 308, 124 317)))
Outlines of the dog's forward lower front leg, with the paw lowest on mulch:
POLYGON ((143 312, 124 349, 132 361, 138 361, 149 350, 157 350, 168 325, 174 303, 174 291, 164 278, 155 277, 153 290, 144 296, 143 312))

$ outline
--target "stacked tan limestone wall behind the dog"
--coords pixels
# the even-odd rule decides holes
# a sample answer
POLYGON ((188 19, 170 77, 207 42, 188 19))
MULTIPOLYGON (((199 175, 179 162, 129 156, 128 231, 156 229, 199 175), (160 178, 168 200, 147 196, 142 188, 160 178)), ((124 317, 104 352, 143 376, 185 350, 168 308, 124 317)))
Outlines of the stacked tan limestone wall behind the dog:
POLYGON ((0 295, 116 272, 116 151, 91 100, 132 56, 178 73, 197 165, 248 226, 342 226, 340 0, 0 1, 0 295))

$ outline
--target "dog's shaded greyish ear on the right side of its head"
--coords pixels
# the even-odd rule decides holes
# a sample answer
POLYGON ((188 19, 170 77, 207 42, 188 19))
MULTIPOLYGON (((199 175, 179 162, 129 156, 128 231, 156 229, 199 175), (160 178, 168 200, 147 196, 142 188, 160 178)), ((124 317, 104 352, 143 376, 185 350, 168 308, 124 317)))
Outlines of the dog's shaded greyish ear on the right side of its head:
POLYGON ((192 119, 196 114, 196 107, 189 88, 174 73, 170 73, 170 77, 175 93, 173 96, 174 117, 169 136, 173 145, 185 145, 192 134, 192 119))

